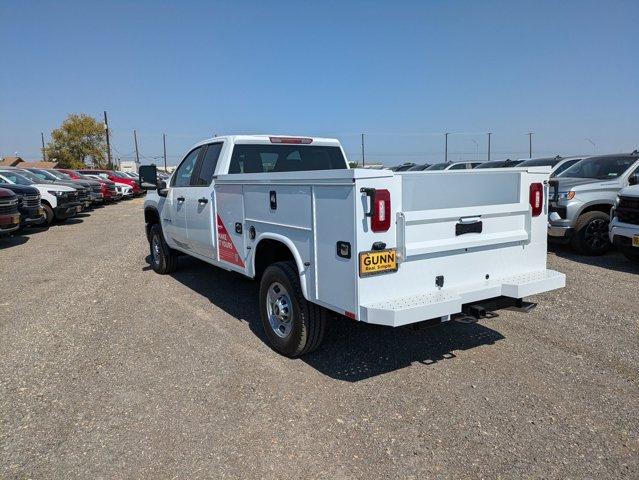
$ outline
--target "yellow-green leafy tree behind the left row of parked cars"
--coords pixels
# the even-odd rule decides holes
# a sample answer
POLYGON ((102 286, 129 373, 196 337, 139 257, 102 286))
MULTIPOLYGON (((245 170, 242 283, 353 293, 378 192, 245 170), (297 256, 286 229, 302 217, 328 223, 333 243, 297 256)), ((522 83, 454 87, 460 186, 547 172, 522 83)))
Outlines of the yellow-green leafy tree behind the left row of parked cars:
POLYGON ((96 168, 107 167, 104 124, 84 113, 70 114, 60 128, 51 132, 47 158, 65 168, 82 168, 90 161, 96 168))

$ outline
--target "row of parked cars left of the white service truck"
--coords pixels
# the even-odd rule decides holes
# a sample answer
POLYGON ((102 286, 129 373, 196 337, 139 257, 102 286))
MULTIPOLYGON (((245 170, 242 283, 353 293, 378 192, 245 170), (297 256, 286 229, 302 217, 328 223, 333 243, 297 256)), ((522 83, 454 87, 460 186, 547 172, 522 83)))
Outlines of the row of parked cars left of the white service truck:
POLYGON ((0 236, 64 222, 98 205, 142 195, 135 174, 99 169, 0 168, 0 236))

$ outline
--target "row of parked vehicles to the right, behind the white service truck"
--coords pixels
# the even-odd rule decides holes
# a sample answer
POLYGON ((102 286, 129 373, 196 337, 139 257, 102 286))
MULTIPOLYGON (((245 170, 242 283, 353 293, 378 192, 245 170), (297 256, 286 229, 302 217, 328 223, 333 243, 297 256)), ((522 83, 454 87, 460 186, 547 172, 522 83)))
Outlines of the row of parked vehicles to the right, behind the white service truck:
POLYGON ((639 152, 491 162, 405 163, 396 172, 550 167, 548 235, 584 255, 612 245, 639 261, 639 152))

